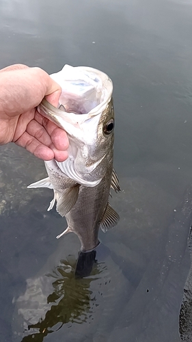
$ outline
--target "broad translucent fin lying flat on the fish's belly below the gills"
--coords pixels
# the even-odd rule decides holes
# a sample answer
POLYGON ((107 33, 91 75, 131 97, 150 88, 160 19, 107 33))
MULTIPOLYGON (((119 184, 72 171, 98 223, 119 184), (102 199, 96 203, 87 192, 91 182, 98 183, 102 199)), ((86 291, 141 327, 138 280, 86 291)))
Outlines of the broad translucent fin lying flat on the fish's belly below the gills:
POLYGON ((63 194, 57 194, 56 210, 62 218, 72 209, 79 195, 79 184, 68 187, 63 194))

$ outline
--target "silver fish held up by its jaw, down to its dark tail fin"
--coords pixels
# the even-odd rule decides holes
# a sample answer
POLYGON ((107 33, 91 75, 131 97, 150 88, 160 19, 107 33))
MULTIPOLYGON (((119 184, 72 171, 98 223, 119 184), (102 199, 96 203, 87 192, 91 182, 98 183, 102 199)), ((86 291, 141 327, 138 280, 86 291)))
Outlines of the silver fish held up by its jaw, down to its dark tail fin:
POLYGON ((28 187, 48 187, 56 210, 66 217, 68 228, 57 236, 73 232, 81 251, 98 246, 98 229, 106 232, 119 215, 109 205, 110 188, 120 191, 113 170, 114 110, 113 83, 94 68, 65 65, 51 75, 62 93, 58 108, 44 98, 38 111, 68 134, 68 159, 45 161, 48 177, 28 187))

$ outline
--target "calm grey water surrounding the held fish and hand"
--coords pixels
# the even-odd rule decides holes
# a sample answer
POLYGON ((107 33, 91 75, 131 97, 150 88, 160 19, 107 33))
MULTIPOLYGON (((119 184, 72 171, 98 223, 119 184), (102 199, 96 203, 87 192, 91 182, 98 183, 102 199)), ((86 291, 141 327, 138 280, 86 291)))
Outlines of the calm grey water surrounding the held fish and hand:
POLYGON ((26 189, 45 176, 42 161, 1 147, 1 341, 190 341, 191 1, 0 5, 1 68, 86 65, 111 77, 122 187, 120 224, 100 232, 92 276, 74 281, 79 240, 57 241, 65 222, 46 211, 51 191, 26 189))

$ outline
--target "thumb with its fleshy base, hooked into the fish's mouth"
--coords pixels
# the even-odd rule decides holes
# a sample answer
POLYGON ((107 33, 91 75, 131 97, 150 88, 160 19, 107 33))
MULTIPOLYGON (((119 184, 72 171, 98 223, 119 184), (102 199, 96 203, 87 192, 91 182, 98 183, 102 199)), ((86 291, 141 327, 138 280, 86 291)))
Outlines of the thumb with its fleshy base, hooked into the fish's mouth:
POLYGON ((37 107, 44 96, 57 107, 61 87, 40 68, 1 71, 1 107, 6 116, 18 116, 37 107), (12 90, 10 92, 10 89, 12 90))

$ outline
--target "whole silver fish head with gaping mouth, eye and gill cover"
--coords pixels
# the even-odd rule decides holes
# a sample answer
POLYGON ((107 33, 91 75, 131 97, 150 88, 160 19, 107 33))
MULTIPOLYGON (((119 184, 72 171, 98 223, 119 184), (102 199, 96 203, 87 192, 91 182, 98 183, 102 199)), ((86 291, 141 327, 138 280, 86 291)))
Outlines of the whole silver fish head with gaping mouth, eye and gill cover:
POLYGON ((68 159, 57 166, 77 183, 94 187, 113 163, 113 83, 88 67, 64 66, 51 77, 62 88, 62 110, 44 99, 38 111, 68 134, 68 159))

